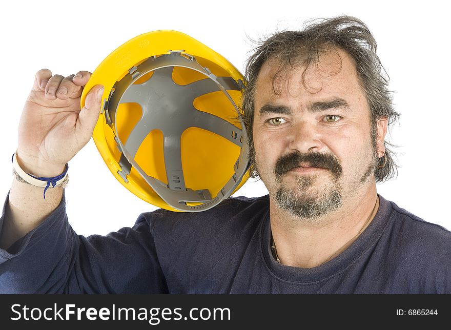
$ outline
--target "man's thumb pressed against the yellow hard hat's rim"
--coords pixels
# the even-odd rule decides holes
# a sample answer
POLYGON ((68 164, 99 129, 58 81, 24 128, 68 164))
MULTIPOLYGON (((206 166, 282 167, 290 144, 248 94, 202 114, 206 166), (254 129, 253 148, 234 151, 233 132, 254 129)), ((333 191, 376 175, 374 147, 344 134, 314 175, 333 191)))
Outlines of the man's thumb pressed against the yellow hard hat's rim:
POLYGON ((84 137, 83 140, 89 141, 97 123, 101 108, 104 86, 94 86, 86 95, 85 106, 81 109, 77 119, 77 135, 84 137))

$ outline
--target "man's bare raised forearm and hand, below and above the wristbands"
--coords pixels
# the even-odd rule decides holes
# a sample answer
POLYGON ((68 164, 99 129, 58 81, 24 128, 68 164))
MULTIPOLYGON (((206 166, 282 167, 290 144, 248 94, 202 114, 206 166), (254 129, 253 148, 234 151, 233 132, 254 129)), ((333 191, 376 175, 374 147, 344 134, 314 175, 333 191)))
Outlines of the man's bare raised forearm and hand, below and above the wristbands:
MULTIPOLYGON (((91 77, 88 71, 63 77, 48 69, 36 73, 20 117, 16 161, 36 178, 57 177, 66 163, 88 143, 96 125, 104 88, 96 85, 80 109, 80 96, 91 77)), ((45 181, 44 181, 45 182, 45 181)), ((8 249, 56 209, 63 187, 36 187, 14 179, 0 231, 0 248, 8 249)))

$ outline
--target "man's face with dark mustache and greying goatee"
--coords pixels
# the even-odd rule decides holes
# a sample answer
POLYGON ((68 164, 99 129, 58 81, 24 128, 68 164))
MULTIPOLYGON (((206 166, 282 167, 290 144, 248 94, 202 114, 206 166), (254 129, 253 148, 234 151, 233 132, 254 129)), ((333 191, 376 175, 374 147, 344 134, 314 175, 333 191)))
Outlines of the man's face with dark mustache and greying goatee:
POLYGON ((375 184, 386 120, 377 120, 375 150, 364 92, 353 61, 341 50, 279 76, 276 93, 278 69, 277 61, 269 61, 257 79, 256 168, 280 209, 318 218, 375 184))

